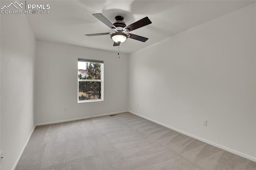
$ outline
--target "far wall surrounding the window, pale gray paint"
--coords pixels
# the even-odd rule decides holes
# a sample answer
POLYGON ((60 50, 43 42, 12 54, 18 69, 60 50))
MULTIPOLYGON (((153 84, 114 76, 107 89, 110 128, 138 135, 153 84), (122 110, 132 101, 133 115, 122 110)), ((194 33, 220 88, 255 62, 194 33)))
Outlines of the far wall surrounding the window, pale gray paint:
POLYGON ((36 123, 128 110, 127 54, 37 41, 36 57, 36 123), (104 101, 77 103, 78 58, 104 61, 104 101))

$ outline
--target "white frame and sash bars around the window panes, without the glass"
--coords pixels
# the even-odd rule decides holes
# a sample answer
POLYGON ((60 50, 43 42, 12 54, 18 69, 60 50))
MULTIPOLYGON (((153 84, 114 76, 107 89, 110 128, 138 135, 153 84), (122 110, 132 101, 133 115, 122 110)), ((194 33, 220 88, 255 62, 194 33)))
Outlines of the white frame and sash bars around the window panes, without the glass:
POLYGON ((77 61, 77 70, 78 70, 78 62, 91 62, 91 63, 100 63, 100 80, 99 79, 78 79, 77 76, 77 103, 88 103, 88 102, 95 102, 95 101, 104 101, 104 61, 100 60, 93 60, 93 59, 82 59, 78 58, 77 61), (100 98, 101 99, 90 99, 90 100, 79 100, 79 82, 100 82, 100 98))

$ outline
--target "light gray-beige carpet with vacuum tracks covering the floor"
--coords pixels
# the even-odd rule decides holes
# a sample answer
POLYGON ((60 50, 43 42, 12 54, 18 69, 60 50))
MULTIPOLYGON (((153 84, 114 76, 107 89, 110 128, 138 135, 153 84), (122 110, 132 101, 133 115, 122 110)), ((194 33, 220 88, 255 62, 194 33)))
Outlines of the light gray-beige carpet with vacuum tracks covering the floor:
POLYGON ((256 162, 131 113, 37 126, 16 170, 256 170, 256 162))

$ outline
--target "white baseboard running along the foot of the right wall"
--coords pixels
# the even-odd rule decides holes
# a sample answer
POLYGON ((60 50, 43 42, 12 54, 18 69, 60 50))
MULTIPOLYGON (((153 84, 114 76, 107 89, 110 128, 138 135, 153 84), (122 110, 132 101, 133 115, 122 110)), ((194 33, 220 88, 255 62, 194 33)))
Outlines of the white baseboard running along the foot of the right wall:
POLYGON ((139 117, 142 117, 142 118, 144 118, 144 119, 148 119, 149 121, 152 121, 152 122, 157 123, 157 124, 159 124, 159 125, 162 125, 162 126, 164 126, 164 127, 167 127, 167 128, 172 129, 172 130, 175 130, 175 131, 177 131, 177 132, 180 132, 180 133, 182 133, 182 134, 185 134, 185 135, 187 135, 187 136, 190 136, 190 137, 192 137, 192 138, 195 138, 195 139, 197 139, 197 140, 200 140, 200 141, 202 141, 202 142, 205 142, 205 143, 207 143, 207 144, 210 144, 210 145, 212 145, 212 146, 216 146, 217 148, 221 148, 221 149, 223 149, 223 150, 226 150, 226 151, 228 151, 228 152, 231 152, 231 153, 233 153, 233 154, 236 154, 236 155, 238 155, 238 156, 242 156, 243 158, 246 158, 246 159, 249 159, 249 160, 252 160, 252 161, 256 162, 256 157, 250 156, 250 155, 248 155, 248 154, 244 154, 244 153, 239 152, 239 151, 237 151, 237 150, 234 150, 234 149, 228 148, 228 147, 226 147, 226 146, 222 146, 222 145, 220 145, 220 144, 217 144, 217 143, 211 142, 211 141, 209 141, 209 140, 200 138, 200 137, 198 137, 198 136, 195 136, 195 135, 193 135, 193 134, 184 132, 184 131, 179 130, 179 129, 177 129, 177 128, 170 127, 170 126, 168 126, 168 125, 165 125, 165 124, 163 124, 163 123, 160 123, 160 122, 155 121, 155 120, 153 120, 153 119, 150 119, 150 118, 148 118, 148 117, 142 116, 142 115, 140 115, 140 114, 138 114, 138 113, 134 113, 134 112, 132 112, 132 111, 128 111, 128 112, 130 112, 130 113, 132 113, 132 114, 134 114, 134 115, 137 115, 137 116, 139 116, 139 117))

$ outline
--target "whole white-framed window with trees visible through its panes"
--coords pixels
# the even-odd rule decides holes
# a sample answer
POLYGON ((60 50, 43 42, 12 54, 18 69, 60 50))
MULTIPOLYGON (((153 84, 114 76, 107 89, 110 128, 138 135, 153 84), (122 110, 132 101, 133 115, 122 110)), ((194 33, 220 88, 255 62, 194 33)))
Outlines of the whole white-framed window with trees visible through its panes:
POLYGON ((78 59, 78 103, 103 101, 103 61, 78 59))

